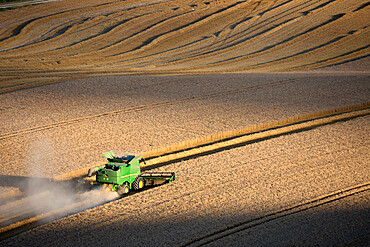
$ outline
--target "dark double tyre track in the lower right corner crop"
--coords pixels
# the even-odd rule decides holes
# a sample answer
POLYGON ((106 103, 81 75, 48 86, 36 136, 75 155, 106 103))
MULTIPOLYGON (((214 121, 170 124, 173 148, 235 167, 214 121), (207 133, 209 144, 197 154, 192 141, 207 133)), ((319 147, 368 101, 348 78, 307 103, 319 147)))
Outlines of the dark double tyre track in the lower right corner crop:
POLYGON ((346 197, 351 197, 370 190, 370 183, 359 184, 346 189, 338 190, 336 192, 309 200, 307 202, 297 204, 292 207, 288 207, 282 210, 278 210, 269 214, 265 214, 261 217, 254 218, 251 220, 241 221, 236 224, 226 226, 223 229, 219 229, 207 235, 200 236, 192 241, 182 244, 185 246, 203 246, 206 244, 213 243, 219 239, 230 236, 232 234, 247 231, 253 227, 269 223, 270 221, 277 220, 290 215, 298 214, 316 207, 320 207, 335 201, 339 201, 346 197))

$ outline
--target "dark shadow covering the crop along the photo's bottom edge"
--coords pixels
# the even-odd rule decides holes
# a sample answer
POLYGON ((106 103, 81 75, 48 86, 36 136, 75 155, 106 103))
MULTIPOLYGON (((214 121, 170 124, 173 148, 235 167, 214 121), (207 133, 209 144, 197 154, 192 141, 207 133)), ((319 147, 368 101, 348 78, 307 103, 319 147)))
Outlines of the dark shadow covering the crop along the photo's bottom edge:
MULTIPOLYGON (((198 217, 181 214, 175 216, 174 209, 167 214, 158 211, 150 214, 149 211, 138 211, 129 217, 124 216, 122 212, 109 219, 101 218, 102 221, 94 225, 83 224, 84 218, 72 216, 60 224, 50 224, 46 229, 36 229, 35 232, 23 234, 22 238, 8 239, 1 244, 4 246, 14 244, 118 246, 121 243, 128 246, 142 246, 140 244, 143 243, 150 243, 151 246, 206 244, 207 246, 368 246, 370 209, 366 206, 366 194, 360 196, 362 199, 357 205, 353 199, 350 199, 340 204, 344 203, 344 207, 338 204, 322 205, 262 223, 258 223, 258 219, 263 218, 268 212, 261 209, 250 214, 233 215, 228 213, 226 205, 225 214, 204 214, 198 217), (233 227, 243 221, 257 223, 233 232, 233 227), (223 229, 230 231, 222 235, 223 229)), ((132 210, 135 210, 135 207, 136 205, 132 205, 132 210)), ((199 210, 205 210, 205 208, 201 207, 199 210)), ((90 215, 97 217, 94 212, 90 215)))

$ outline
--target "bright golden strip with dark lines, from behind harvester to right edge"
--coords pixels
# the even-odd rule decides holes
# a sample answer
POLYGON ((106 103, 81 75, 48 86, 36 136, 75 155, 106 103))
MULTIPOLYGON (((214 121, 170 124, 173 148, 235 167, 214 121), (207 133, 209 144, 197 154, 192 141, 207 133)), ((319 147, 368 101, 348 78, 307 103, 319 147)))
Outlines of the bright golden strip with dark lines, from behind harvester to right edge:
MULTIPOLYGON (((307 130, 321 125, 368 115, 370 114, 369 107, 370 102, 367 102, 359 105, 298 116, 241 130, 220 133, 164 149, 153 150, 143 154, 143 157, 148 159, 148 161, 146 162, 146 165, 142 165, 142 168, 155 167, 163 163, 180 161, 201 154, 209 154, 224 150, 226 148, 237 147, 246 143, 264 140, 266 138, 272 138, 275 136, 307 130)), ((71 173, 62 174, 58 177, 55 177, 55 179, 65 180, 82 177, 87 174, 88 169, 95 166, 96 165, 73 171, 71 173)))

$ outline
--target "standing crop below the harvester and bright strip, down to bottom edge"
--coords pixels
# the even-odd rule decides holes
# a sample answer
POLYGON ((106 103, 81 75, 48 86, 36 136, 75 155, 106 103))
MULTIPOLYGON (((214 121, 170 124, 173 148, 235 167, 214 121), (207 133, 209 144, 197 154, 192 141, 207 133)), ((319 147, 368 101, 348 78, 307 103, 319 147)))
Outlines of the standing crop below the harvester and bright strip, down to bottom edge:
POLYGON ((369 118, 170 164, 178 179, 4 246, 366 246, 369 118), (364 126, 367 126, 364 128, 364 126))

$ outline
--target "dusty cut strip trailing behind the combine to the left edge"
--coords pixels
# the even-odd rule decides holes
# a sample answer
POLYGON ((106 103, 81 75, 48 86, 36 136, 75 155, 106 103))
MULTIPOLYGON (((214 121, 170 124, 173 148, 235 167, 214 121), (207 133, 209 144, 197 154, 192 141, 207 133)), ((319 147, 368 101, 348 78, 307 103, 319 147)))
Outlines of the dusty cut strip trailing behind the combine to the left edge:
MULTIPOLYGON (((124 197, 161 185, 130 191, 124 197)), ((55 181, 0 175, 0 186, 19 188, 22 192, 0 195, 0 242, 41 224, 122 198, 116 192, 79 178, 55 181)))

